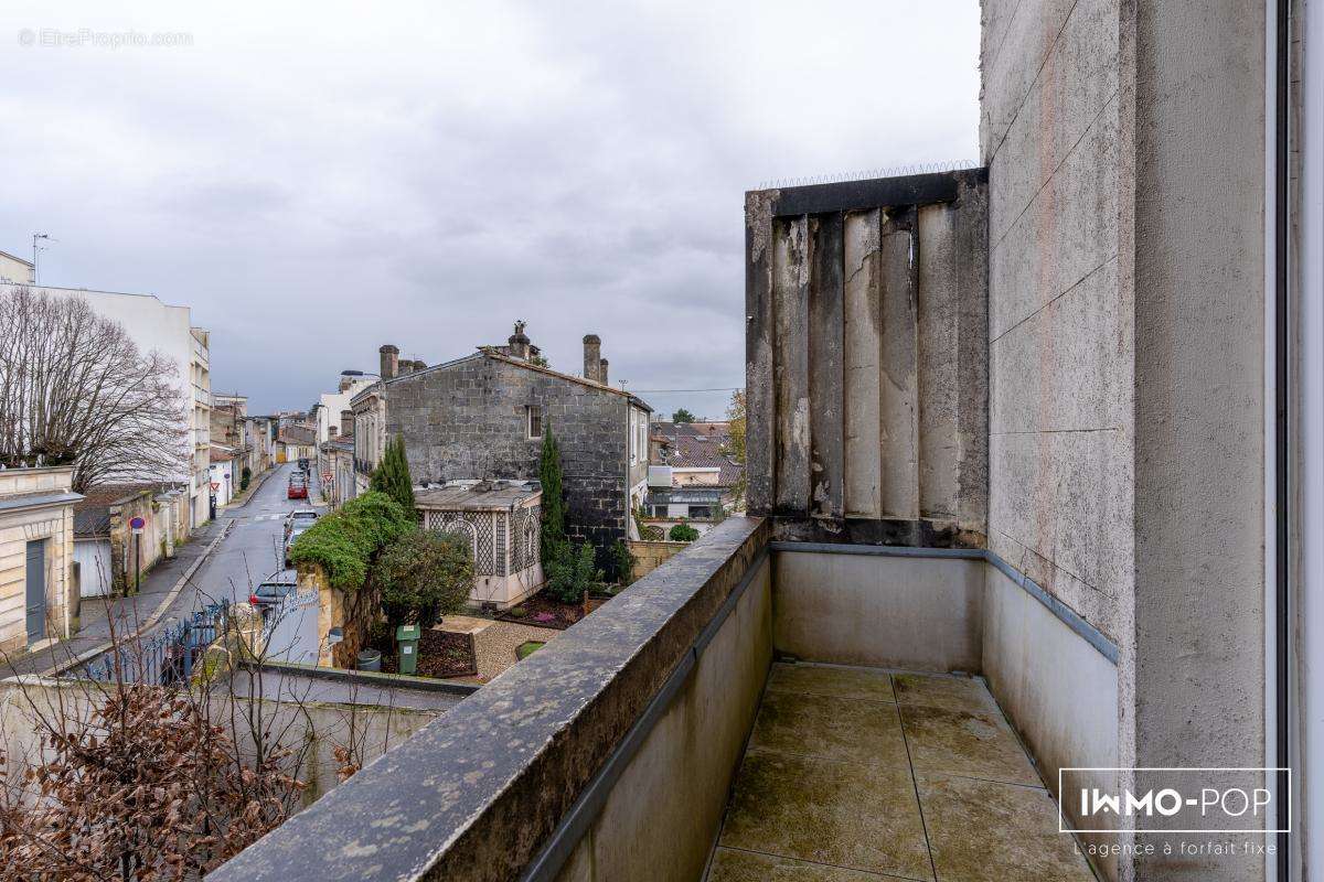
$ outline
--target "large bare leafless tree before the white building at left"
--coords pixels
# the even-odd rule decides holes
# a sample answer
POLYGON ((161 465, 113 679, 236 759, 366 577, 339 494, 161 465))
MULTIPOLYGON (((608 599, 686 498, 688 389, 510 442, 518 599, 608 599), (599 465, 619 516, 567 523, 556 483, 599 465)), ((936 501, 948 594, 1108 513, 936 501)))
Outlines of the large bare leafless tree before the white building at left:
POLYGON ((175 364, 81 298, 0 296, 0 463, 73 464, 75 491, 187 473, 175 364))

